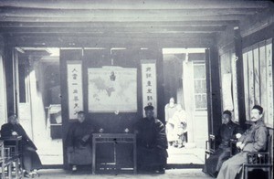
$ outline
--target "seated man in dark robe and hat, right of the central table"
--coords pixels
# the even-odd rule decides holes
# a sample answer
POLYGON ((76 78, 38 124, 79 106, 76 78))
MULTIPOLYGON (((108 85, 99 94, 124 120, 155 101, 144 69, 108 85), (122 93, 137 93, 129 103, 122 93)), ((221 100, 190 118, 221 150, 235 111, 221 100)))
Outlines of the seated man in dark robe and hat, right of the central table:
POLYGON ((134 126, 137 137, 137 169, 164 174, 168 146, 164 125, 153 117, 153 106, 146 106, 144 111, 146 117, 134 126))

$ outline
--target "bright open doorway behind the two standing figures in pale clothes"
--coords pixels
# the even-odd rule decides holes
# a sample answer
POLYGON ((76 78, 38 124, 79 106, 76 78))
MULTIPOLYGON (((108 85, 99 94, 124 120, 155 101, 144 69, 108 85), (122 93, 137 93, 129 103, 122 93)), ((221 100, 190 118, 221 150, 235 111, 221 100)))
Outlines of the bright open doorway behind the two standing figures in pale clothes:
POLYGON ((182 105, 187 123, 184 146, 169 142, 167 163, 204 164, 208 136, 205 48, 163 48, 163 76, 165 109, 171 109, 169 101, 174 98, 175 105, 182 105))

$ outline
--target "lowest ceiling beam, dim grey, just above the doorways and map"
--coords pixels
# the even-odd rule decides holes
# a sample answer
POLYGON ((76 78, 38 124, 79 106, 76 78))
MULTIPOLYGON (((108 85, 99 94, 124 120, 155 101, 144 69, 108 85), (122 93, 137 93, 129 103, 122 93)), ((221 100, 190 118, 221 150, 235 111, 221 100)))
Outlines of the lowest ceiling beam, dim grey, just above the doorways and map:
POLYGON ((10 47, 209 47, 212 37, 7 37, 10 47))

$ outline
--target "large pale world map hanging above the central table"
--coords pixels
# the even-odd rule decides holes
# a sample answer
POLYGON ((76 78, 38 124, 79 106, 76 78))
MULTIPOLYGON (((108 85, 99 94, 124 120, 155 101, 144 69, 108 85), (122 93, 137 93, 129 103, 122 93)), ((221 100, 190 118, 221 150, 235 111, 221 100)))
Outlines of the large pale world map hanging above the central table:
POLYGON ((136 112, 137 69, 89 68, 90 112, 136 112))

